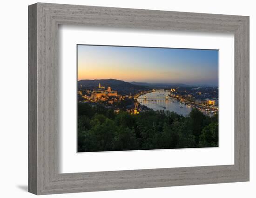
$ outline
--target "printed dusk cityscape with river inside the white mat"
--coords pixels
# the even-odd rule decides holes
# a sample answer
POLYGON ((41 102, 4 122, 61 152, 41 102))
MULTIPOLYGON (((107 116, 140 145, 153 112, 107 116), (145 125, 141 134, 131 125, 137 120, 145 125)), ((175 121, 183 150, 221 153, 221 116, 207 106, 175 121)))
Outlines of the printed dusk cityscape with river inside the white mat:
POLYGON ((77 45, 77 152, 218 147, 218 52, 77 45))

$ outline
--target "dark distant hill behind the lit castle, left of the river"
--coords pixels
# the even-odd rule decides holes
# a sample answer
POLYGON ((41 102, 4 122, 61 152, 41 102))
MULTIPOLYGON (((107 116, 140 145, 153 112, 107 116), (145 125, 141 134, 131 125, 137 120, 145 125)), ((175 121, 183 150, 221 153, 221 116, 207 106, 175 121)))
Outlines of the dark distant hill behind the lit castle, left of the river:
POLYGON ((117 90, 122 94, 129 94, 129 93, 134 94, 134 93, 140 92, 141 90, 148 89, 147 86, 127 83, 122 80, 116 80, 116 79, 80 80, 78 81, 78 88, 95 89, 99 87, 99 83, 101 83, 101 86, 104 86, 105 88, 108 88, 108 86, 110 86, 111 89, 117 90))

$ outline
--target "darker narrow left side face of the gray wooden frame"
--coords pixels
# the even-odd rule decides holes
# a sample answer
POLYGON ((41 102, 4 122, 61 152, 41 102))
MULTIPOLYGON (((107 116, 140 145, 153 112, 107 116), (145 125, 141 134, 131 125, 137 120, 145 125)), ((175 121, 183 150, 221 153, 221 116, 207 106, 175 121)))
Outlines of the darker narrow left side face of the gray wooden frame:
POLYGON ((28 10, 28 191, 37 193, 37 6, 28 10))

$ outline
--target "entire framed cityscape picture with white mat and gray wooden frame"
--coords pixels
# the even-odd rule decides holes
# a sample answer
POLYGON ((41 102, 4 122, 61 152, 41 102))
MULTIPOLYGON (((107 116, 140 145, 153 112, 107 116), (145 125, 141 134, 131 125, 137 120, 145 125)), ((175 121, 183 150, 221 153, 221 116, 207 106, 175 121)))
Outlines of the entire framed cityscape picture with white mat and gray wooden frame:
POLYGON ((28 7, 28 191, 249 181, 249 17, 28 7))

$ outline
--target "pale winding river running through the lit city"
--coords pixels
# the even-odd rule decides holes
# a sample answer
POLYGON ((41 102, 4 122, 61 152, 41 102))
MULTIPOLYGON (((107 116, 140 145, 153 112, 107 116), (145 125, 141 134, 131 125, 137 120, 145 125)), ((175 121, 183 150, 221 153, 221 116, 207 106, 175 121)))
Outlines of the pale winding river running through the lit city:
POLYGON ((153 110, 174 111, 179 115, 188 115, 192 110, 191 106, 182 104, 176 99, 168 96, 170 92, 158 89, 154 92, 143 94, 137 98, 141 105, 145 105, 153 110))

